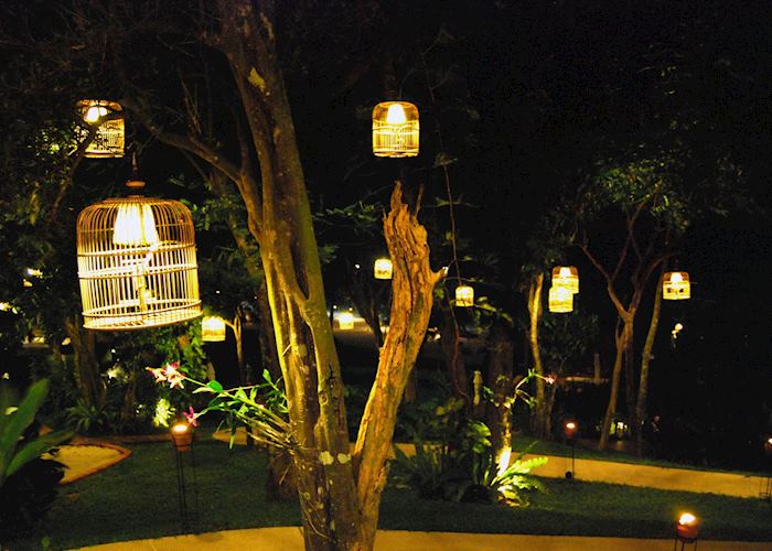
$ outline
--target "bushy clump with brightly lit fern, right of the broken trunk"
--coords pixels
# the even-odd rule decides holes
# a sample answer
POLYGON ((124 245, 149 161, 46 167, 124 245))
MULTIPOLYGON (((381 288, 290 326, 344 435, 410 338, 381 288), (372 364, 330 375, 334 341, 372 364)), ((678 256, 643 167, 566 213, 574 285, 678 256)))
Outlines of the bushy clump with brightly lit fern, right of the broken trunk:
POLYGON ((463 415, 463 402, 449 398, 433 411, 422 408, 417 423, 408 428, 415 455, 395 446, 394 476, 427 499, 451 501, 506 503, 527 505, 525 491, 540 489, 529 473, 544 465, 546 457, 522 461, 530 446, 506 468, 494 460, 491 431, 485 423, 463 415), (428 442, 421 431, 440 435, 428 442))

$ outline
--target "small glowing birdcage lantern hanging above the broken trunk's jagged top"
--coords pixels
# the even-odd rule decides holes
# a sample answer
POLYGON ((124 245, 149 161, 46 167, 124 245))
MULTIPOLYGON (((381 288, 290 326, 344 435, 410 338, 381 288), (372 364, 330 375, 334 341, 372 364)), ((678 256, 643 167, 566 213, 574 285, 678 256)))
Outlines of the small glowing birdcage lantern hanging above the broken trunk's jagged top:
POLYGON ((418 108, 407 101, 383 101, 373 109, 375 156, 418 154, 418 108))

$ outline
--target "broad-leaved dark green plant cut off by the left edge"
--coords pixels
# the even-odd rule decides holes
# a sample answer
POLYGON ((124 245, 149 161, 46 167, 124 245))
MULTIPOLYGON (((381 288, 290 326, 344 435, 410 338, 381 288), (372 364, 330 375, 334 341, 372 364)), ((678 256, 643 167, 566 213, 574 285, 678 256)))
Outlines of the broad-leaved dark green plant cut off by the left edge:
POLYGON ((49 381, 32 385, 21 401, 0 382, 0 536, 28 530, 53 501, 63 466, 41 455, 72 436, 69 431, 37 434, 35 415, 49 392, 49 381))

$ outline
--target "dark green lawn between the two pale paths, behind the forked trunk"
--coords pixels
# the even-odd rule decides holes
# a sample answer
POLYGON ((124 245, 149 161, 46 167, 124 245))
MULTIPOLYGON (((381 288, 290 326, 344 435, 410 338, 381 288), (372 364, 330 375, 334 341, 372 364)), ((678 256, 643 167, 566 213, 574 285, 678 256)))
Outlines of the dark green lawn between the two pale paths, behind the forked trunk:
MULTIPOLYGON (((10 549, 54 549, 174 534, 180 531, 174 454, 169 443, 139 444, 122 463, 65 486, 46 522, 10 549)), ((186 457, 190 460, 190 457, 186 457)), ((199 521, 195 531, 299 525, 294 500, 266 499, 265 457, 221 442, 195 445, 199 521)), ((189 484, 192 472, 187 471, 189 484)), ((741 499, 608 484, 544 479, 547 491, 527 508, 426 501, 387 488, 380 527, 470 532, 669 538, 682 510, 703 518, 708 539, 772 541, 772 506, 741 499)), ((189 497, 194 508, 193 496, 189 497)))

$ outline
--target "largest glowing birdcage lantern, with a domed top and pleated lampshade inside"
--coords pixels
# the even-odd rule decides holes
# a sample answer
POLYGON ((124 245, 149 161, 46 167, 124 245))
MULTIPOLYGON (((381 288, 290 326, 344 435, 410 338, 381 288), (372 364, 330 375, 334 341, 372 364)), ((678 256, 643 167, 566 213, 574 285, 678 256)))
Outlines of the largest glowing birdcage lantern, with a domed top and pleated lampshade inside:
POLYGON ((86 207, 77 261, 86 328, 141 329, 201 315, 193 220, 179 201, 131 195, 86 207))

